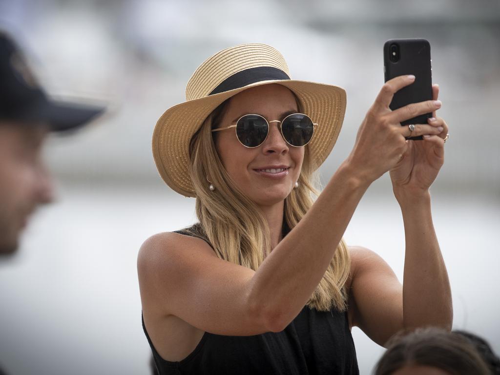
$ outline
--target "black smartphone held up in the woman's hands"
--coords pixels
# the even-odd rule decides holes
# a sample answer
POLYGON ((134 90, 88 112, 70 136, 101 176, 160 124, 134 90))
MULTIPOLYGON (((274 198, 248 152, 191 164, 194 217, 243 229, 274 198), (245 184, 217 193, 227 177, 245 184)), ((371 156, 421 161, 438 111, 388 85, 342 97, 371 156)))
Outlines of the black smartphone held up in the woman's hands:
MULTIPOLYGON (((421 38, 390 39, 383 45, 383 65, 385 81, 398 75, 413 74, 415 81, 401 88, 394 94, 390 109, 394 110, 409 103, 432 99, 432 68, 430 43, 421 38)), ((432 113, 425 113, 401 122, 401 126, 410 123, 427 123, 432 113)), ((408 139, 422 139, 412 136, 408 139)))

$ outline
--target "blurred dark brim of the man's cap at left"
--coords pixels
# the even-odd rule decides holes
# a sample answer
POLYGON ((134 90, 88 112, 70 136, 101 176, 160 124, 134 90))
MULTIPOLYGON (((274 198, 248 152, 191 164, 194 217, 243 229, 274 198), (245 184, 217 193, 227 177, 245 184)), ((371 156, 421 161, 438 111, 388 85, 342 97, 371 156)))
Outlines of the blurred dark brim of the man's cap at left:
POLYGON ((26 120, 46 122, 52 131, 66 131, 77 129, 91 121, 104 109, 103 105, 43 99, 24 108, 23 117, 26 120))

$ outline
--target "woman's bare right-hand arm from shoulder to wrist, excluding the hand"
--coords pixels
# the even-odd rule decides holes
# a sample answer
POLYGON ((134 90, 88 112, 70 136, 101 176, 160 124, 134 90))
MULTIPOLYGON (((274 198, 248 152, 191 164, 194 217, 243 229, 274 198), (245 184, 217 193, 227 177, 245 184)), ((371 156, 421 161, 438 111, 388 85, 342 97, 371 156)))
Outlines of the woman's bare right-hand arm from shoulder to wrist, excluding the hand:
POLYGON ((379 345, 398 330, 451 328, 452 306, 446 268, 430 215, 430 197, 401 207, 406 250, 403 284, 373 251, 350 247, 352 325, 379 345))

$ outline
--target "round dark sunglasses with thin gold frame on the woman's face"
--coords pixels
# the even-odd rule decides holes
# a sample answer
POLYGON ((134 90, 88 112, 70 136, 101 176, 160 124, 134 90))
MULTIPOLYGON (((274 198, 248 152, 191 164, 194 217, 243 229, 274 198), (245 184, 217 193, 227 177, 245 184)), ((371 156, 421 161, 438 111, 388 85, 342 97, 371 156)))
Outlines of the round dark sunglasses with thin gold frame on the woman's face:
POLYGON ((212 132, 234 127, 239 142, 245 147, 253 148, 261 145, 267 138, 270 122, 279 122, 281 136, 293 147, 302 147, 309 143, 314 127, 317 126, 317 123, 312 122, 309 116, 303 113, 288 114, 281 121, 267 121, 260 114, 245 114, 238 118, 235 125, 212 129, 212 132))

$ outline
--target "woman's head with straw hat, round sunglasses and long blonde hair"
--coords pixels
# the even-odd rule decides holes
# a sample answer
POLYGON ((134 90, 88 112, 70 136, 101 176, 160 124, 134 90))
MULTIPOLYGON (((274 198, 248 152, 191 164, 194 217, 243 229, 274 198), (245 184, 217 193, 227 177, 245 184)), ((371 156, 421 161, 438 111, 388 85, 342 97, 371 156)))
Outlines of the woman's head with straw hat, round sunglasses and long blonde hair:
MULTIPOLYGON (((344 95, 291 80, 281 54, 263 44, 227 48, 196 69, 187 101, 158 120, 153 155, 170 187, 196 197, 201 234, 220 258, 257 269, 271 251, 262 208, 283 210, 284 234, 307 212, 317 194, 313 172, 340 130, 344 95)), ((309 306, 344 309, 348 273, 342 239, 309 306)))

